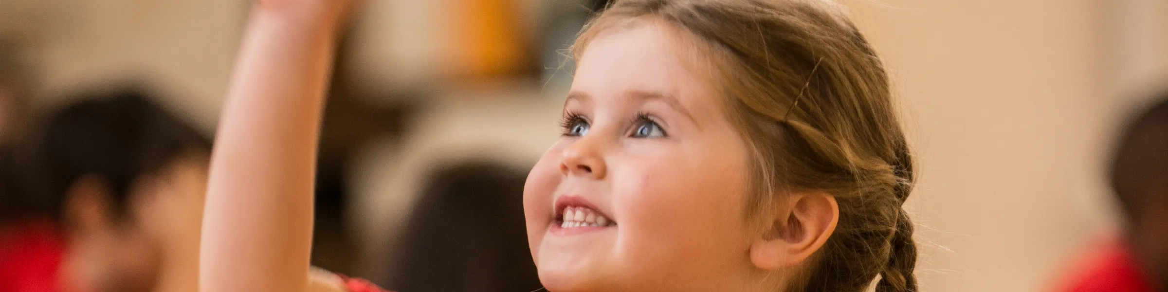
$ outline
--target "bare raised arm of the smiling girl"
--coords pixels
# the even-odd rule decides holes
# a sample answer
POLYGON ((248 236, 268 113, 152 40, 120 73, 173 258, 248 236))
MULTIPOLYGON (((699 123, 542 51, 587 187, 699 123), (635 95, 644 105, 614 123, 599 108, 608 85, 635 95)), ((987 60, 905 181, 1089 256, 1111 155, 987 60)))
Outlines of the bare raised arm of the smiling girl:
POLYGON ((260 0, 220 120, 203 217, 200 291, 308 287, 321 107, 350 0, 260 0))

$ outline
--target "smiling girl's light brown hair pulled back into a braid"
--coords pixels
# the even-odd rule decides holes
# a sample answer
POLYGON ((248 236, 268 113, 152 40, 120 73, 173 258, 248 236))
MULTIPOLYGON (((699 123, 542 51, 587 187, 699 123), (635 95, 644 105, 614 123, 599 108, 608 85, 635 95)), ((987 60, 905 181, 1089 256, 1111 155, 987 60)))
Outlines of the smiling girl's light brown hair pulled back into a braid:
POLYGON ((791 290, 917 291, 912 223, 903 210, 912 160, 888 75, 864 36, 827 1, 618 0, 572 46, 652 19, 695 36, 755 165, 748 216, 792 190, 835 196, 834 234, 791 290), (779 192, 786 190, 786 192, 779 192))

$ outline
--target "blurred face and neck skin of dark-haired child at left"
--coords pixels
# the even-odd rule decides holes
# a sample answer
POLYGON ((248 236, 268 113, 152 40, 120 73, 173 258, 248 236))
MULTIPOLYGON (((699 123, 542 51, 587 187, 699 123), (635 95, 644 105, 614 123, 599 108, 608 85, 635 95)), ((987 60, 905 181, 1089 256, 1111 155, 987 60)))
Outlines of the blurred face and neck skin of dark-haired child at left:
POLYGON ((183 158, 134 183, 128 214, 117 215, 92 176, 70 189, 64 266, 88 291, 195 291, 207 162, 183 158))

